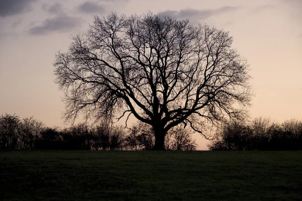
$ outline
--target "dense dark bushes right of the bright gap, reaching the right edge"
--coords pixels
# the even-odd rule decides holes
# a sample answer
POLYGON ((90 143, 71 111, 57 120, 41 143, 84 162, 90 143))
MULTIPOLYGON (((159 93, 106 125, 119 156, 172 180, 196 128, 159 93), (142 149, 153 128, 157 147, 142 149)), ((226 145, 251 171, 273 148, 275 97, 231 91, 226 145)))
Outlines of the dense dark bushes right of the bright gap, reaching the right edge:
POLYGON ((230 122, 217 132, 210 150, 302 150, 302 121, 282 124, 265 118, 230 122))

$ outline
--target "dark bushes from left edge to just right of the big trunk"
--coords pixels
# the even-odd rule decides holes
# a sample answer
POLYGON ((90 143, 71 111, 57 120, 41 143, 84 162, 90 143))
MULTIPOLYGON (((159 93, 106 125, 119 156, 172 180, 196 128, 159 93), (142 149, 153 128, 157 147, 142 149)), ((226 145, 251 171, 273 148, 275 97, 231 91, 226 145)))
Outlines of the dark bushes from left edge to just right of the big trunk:
MULTIPOLYGON (((172 129, 166 136, 167 150, 196 150, 192 133, 183 127, 172 129)), ((0 149, 55 150, 152 150, 155 136, 152 127, 136 123, 123 126, 90 126, 85 123, 69 128, 46 127, 34 118, 16 115, 0 116, 0 149)))

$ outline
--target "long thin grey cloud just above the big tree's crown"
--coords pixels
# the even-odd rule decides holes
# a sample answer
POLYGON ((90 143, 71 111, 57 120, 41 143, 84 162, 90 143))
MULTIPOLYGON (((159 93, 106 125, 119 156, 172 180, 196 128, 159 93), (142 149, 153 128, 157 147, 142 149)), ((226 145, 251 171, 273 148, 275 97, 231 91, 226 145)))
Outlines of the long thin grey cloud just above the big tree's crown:
POLYGON ((228 13, 238 10, 238 7, 221 7, 218 9, 207 9, 207 10, 196 10, 196 9, 183 9, 180 11, 164 11, 159 13, 159 15, 172 16, 179 19, 190 19, 195 18, 199 20, 205 20, 214 15, 219 15, 223 13, 228 13))

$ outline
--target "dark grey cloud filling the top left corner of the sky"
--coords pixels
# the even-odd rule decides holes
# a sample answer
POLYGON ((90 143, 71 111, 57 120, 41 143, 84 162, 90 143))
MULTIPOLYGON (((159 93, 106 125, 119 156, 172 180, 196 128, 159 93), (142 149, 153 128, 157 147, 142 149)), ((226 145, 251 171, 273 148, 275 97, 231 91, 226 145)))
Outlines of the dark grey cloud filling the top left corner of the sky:
POLYGON ((18 15, 31 10, 36 0, 0 0, 0 17, 18 15))

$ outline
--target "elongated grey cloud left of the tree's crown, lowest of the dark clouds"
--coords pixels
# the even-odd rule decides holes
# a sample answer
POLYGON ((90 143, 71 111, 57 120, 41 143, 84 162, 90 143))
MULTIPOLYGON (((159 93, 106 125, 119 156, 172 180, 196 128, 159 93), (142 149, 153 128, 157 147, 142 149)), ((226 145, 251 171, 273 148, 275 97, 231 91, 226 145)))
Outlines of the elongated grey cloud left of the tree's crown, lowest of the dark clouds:
POLYGON ((29 33, 32 35, 44 35, 49 32, 66 32, 80 25, 78 18, 69 16, 57 16, 45 20, 40 26, 32 27, 29 33))

